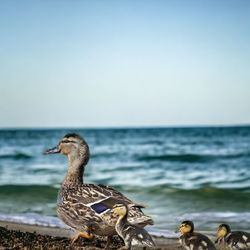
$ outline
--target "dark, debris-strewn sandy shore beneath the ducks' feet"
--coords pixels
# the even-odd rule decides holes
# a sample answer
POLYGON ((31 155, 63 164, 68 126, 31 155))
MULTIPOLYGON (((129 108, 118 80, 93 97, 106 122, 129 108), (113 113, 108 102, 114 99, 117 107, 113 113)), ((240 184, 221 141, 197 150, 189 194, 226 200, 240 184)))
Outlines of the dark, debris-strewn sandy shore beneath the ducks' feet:
MULTIPOLYGON (((70 230, 62 228, 0 221, 0 250, 103 249, 106 244, 105 238, 95 237, 91 240, 79 239, 71 245, 71 233, 70 230)), ((158 250, 182 249, 177 239, 154 236, 154 240, 157 245, 155 249, 158 250)), ((110 249, 119 249, 122 246, 122 241, 118 237, 114 237, 110 249)))

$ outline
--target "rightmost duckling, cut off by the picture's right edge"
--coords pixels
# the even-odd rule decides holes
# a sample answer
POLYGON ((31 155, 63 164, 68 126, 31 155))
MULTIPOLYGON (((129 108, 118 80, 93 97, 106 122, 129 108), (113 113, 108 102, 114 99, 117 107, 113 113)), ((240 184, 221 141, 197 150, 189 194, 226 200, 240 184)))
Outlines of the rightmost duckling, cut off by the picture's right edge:
POLYGON ((217 233, 217 243, 221 248, 230 250, 250 249, 250 233, 242 231, 231 231, 228 224, 220 224, 217 233))

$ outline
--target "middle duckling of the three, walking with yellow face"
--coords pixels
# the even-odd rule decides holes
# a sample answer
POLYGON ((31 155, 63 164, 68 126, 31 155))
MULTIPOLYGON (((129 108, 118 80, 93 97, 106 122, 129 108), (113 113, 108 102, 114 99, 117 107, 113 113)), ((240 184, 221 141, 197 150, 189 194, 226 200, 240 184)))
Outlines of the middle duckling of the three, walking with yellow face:
POLYGON ((192 221, 183 221, 179 227, 181 245, 187 250, 216 250, 212 241, 201 233, 194 232, 192 221))

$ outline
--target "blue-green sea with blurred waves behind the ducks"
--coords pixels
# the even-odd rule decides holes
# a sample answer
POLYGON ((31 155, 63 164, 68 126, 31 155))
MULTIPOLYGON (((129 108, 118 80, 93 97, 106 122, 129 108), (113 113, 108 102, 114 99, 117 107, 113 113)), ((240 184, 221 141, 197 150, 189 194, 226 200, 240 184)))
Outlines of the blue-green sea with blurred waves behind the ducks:
POLYGON ((153 230, 250 230, 250 127, 0 130, 0 219, 55 216, 67 159, 42 152, 68 132, 90 145, 85 182, 146 204, 153 230))

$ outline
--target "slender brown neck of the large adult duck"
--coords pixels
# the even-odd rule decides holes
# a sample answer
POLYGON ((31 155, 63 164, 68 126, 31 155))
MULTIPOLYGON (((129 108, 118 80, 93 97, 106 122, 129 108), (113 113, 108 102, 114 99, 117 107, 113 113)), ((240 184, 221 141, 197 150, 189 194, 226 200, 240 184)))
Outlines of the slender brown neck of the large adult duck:
POLYGON ((83 157, 68 155, 68 171, 64 178, 63 185, 80 185, 83 184, 84 168, 88 159, 83 157))

